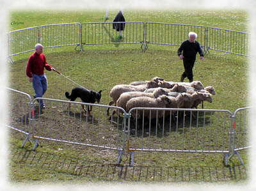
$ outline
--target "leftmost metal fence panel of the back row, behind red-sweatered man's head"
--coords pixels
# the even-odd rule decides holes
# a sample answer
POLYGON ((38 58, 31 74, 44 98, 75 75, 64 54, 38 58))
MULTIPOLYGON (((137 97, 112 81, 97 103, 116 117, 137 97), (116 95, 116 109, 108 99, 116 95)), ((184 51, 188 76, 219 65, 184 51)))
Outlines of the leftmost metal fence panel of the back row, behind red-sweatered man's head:
POLYGON ((14 56, 35 50, 38 43, 39 27, 30 27, 12 31, 8 34, 8 56, 14 56))

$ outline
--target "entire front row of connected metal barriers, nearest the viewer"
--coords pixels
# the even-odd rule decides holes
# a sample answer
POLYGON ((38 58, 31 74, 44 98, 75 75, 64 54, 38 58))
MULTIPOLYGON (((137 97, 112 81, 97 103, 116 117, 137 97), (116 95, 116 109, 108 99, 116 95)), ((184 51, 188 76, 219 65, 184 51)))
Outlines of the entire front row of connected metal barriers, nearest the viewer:
MULTIPOLYGON (((53 141, 118 151, 123 153, 221 153, 225 164, 239 151, 250 148, 248 126, 250 107, 226 110, 133 108, 128 113, 120 107, 31 97, 8 89, 9 128, 38 141, 53 141), (37 103, 43 100, 46 107, 37 103), (86 111, 92 106, 91 116, 86 111), (108 116, 110 109, 111 116, 108 116), (117 111, 117 117, 112 112, 117 111), (120 117, 120 114, 123 117, 120 117), (148 120, 152 119, 152 120, 148 120)), ((239 157, 239 160, 241 158, 239 157)), ((243 160, 241 160, 243 164, 243 160)))

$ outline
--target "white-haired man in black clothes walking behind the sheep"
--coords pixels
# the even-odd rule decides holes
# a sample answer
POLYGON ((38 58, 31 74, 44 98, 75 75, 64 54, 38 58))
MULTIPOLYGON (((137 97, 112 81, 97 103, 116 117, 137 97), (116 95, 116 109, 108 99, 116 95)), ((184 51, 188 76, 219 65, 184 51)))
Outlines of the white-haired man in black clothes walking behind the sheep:
POLYGON ((200 54, 200 59, 204 61, 204 52, 200 44, 195 40, 197 34, 190 32, 188 36, 189 39, 182 42, 178 49, 178 56, 183 60, 185 70, 180 77, 180 82, 183 82, 186 77, 188 77, 189 82, 193 82, 193 66, 197 52, 200 54))

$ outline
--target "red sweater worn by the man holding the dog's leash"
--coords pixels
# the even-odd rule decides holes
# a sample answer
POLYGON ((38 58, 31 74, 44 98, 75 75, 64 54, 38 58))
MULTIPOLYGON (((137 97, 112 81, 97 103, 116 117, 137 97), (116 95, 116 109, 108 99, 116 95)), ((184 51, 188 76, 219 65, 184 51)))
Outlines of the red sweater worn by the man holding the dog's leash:
POLYGON ((43 53, 37 54, 36 52, 34 52, 28 59, 26 71, 27 76, 32 77, 31 73, 36 75, 42 75, 44 74, 44 68, 51 71, 52 66, 47 64, 46 57, 43 53))

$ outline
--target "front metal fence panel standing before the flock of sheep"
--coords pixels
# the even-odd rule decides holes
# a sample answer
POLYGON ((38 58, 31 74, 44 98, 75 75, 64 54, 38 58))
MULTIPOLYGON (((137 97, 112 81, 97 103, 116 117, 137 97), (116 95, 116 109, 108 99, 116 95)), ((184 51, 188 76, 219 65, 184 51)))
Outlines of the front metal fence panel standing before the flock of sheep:
POLYGON ((133 116, 128 122, 130 151, 231 151, 232 114, 229 111, 134 108, 129 114, 133 116), (150 118, 152 120, 148 120, 150 118))

